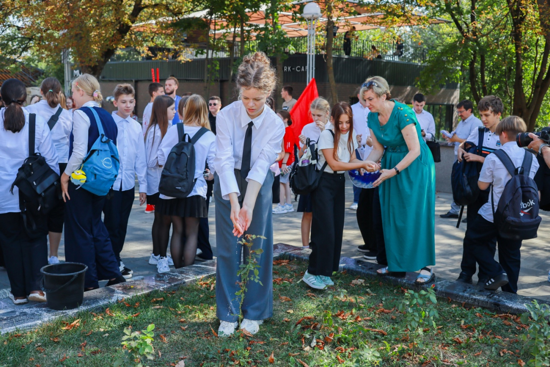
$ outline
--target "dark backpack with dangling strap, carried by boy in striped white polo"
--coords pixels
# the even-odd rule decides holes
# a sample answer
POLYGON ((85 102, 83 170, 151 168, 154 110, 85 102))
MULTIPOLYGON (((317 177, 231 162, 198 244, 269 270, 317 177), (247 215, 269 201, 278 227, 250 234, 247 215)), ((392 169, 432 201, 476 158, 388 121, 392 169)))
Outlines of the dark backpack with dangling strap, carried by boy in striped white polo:
MULTIPOLYGON (((483 133, 485 128, 478 128, 477 146, 470 147, 466 153, 474 153, 481 156, 483 147, 483 133)), ((480 171, 483 165, 479 162, 467 162, 458 160, 453 164, 453 171, 450 176, 450 184, 453 189, 453 200, 456 205, 460 205, 460 215, 456 228, 460 226, 460 220, 464 212, 464 206, 473 204, 480 194, 480 188, 477 186, 477 181, 480 178, 480 171)))

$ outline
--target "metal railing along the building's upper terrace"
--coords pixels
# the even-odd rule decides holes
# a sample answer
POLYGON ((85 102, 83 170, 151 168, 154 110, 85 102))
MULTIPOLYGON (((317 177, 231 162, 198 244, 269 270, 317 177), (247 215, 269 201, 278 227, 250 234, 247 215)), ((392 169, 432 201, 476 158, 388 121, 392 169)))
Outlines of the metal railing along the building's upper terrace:
MULTIPOLYGON (((315 48, 317 54, 326 53, 326 39, 317 39, 315 48)), ((307 50, 306 37, 293 37, 290 39, 288 54, 305 54, 307 50)), ((345 45, 344 37, 336 37, 333 41, 332 52, 335 56, 360 57, 367 59, 386 59, 391 61, 401 61, 407 63, 423 64, 427 59, 426 47, 417 45, 405 45, 403 43, 389 43, 379 41, 365 41, 351 39, 349 47, 345 45)), ((244 52, 260 50, 260 42, 257 40, 246 41, 244 52)), ((133 47, 119 48, 114 56, 109 60, 111 62, 125 61, 150 61, 156 59, 204 59, 230 57, 233 47, 233 55, 240 56, 240 42, 226 42, 218 40, 217 43, 207 50, 206 43, 184 44, 179 48, 167 47, 149 47, 145 53, 136 50, 133 47)), ((260 50, 269 51, 269 50, 260 50)))

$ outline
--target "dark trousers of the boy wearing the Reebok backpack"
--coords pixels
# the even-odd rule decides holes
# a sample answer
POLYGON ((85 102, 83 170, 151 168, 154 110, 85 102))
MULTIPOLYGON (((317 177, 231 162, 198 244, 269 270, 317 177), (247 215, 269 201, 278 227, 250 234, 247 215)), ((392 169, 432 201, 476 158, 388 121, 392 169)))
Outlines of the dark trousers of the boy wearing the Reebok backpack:
POLYGON ((500 237, 494 223, 487 221, 481 215, 477 215, 474 223, 468 226, 464 242, 473 249, 480 265, 480 272, 489 278, 499 274, 508 275, 508 284, 502 287, 504 292, 518 293, 518 278, 521 265, 521 240, 511 240, 500 237), (498 262, 494 260, 495 246, 498 243, 498 262))

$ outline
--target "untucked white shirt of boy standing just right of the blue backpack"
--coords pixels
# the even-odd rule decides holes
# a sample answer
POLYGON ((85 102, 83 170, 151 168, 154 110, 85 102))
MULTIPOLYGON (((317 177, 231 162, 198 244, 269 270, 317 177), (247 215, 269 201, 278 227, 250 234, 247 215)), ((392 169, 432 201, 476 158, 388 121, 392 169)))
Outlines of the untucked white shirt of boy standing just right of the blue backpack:
POLYGON ((117 149, 120 167, 117 179, 114 180, 113 190, 130 190, 135 187, 136 174, 138 175, 139 192, 147 192, 147 161, 145 160, 145 142, 139 122, 131 117, 122 118, 117 111, 112 113, 117 124, 117 149))

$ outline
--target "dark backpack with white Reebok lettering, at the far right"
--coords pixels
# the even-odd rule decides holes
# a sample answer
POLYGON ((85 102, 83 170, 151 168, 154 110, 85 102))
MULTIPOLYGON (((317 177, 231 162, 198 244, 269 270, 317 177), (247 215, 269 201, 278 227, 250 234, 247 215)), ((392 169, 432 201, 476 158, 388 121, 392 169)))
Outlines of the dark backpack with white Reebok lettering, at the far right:
POLYGON ((536 238, 541 217, 538 215, 537 184, 529 177, 533 155, 525 151, 521 167, 516 168, 505 151, 496 150, 493 154, 503 163, 512 177, 504 186, 497 210, 494 210, 491 190, 493 222, 497 226, 500 237, 515 240, 536 238))

